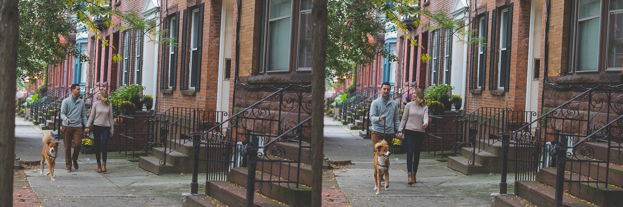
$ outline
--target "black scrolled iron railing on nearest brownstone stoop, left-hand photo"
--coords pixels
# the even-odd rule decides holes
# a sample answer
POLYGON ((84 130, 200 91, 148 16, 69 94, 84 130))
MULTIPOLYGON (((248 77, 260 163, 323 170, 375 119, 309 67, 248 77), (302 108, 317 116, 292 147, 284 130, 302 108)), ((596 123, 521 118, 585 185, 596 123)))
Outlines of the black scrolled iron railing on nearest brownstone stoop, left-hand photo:
MULTIPOLYGON (((296 183, 298 186, 300 172, 278 170, 278 173, 273 173, 266 179, 255 180, 255 170, 262 168, 252 168, 257 167, 257 164, 264 166, 263 162, 288 163, 300 168, 302 150, 310 148, 303 143, 310 140, 308 120, 311 117, 311 107, 308 90, 283 88, 207 131, 194 132, 191 193, 197 193, 197 175, 201 167, 207 172, 206 182, 225 180, 227 173, 235 167, 249 167, 249 183, 296 183), (278 142, 294 142, 297 147, 294 150, 283 149, 278 142), (206 152, 200 156, 201 146, 206 146, 202 148, 206 152)), ((247 185, 247 202, 253 203, 254 186, 247 185)))

